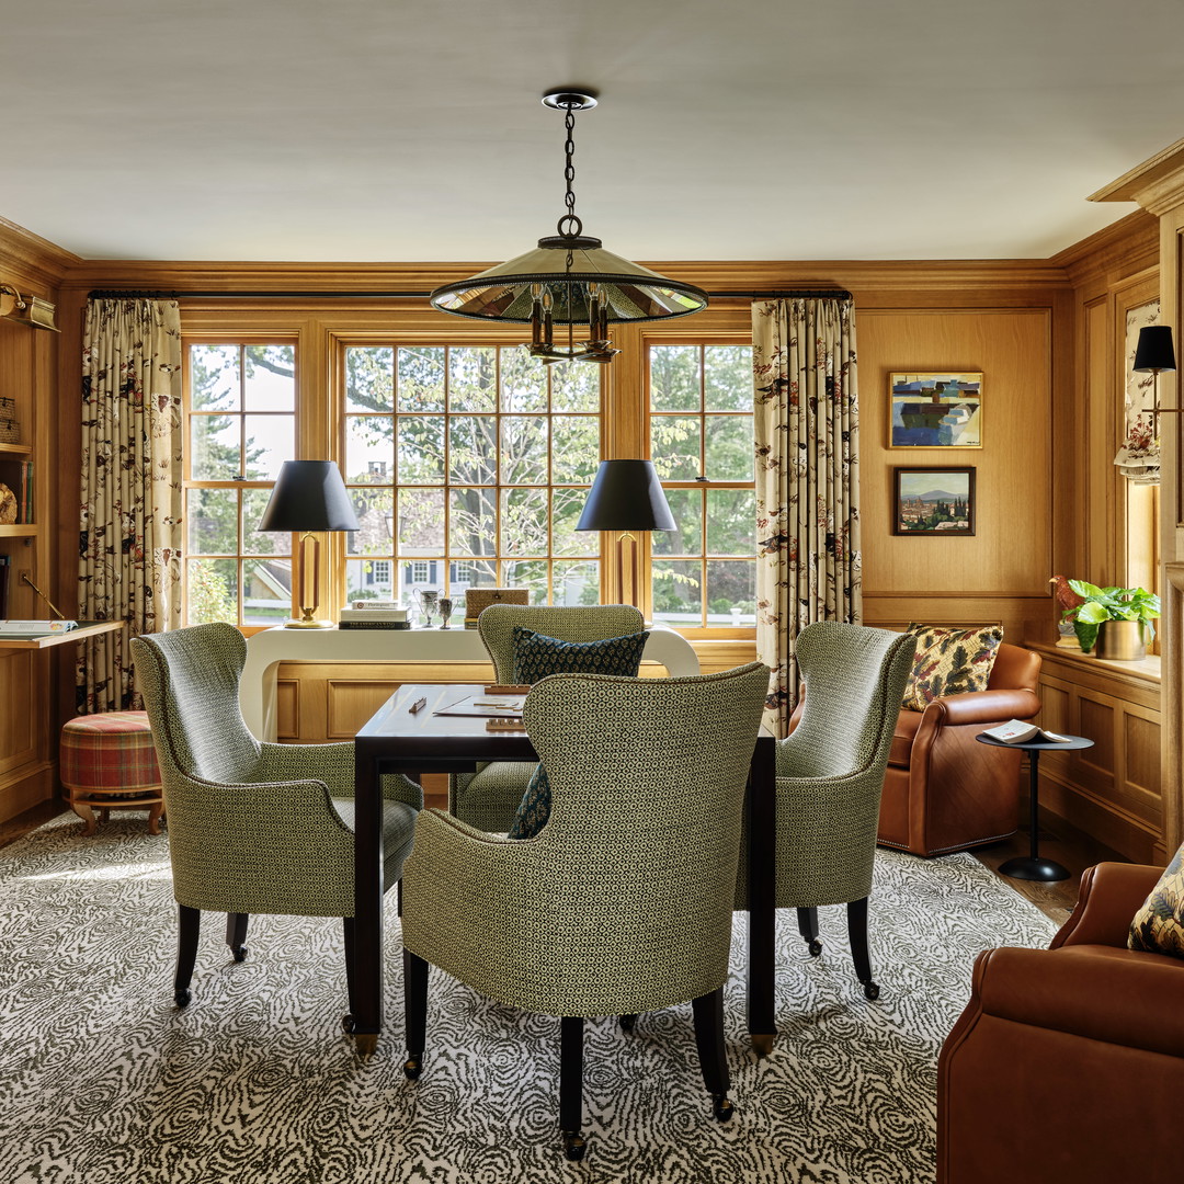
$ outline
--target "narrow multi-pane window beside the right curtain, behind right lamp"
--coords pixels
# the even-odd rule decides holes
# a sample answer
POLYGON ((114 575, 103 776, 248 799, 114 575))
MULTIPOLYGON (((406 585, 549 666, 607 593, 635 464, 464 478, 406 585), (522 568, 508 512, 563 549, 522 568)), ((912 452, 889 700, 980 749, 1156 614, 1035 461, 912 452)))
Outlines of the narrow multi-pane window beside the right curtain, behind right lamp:
POLYGON ((652 535, 654 617, 680 629, 757 622, 752 348, 650 346, 650 457, 676 530, 652 535))

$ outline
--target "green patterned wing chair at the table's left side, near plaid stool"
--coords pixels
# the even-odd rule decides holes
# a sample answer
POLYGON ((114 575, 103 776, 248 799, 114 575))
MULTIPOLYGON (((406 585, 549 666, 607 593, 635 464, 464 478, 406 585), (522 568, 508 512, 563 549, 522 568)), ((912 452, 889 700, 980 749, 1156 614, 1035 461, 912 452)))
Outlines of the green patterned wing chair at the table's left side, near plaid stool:
MULTIPOLYGON (((246 957, 252 913, 354 914, 353 744, 260 744, 238 706, 246 659, 227 624, 131 639, 165 789, 180 944, 174 997, 189 1002, 201 910, 227 914, 226 944, 246 957)), ((418 785, 382 779, 384 874, 401 875, 423 805, 418 785)), ((347 966, 352 959, 347 957, 347 966)))

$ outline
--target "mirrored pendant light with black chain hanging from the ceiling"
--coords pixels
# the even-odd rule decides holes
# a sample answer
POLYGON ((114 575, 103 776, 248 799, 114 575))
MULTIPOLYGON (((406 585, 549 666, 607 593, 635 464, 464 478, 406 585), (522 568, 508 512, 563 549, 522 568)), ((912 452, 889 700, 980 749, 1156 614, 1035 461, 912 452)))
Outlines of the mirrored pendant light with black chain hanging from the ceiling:
POLYGON ((604 250, 600 239, 584 233, 584 224, 575 215, 572 189, 575 180, 573 133, 575 112, 596 107, 597 99, 587 91, 568 89, 548 91, 542 101, 566 112, 564 201, 567 212, 559 219, 556 233, 540 238, 534 251, 470 279, 437 288, 430 300, 442 313, 529 324, 530 341, 526 348, 545 363, 573 360, 605 363, 619 352, 612 348, 610 324, 699 313, 707 308, 707 292, 630 263, 604 250), (556 326, 566 326, 567 330, 560 333, 559 345, 555 343, 556 326), (578 326, 586 329, 587 341, 575 341, 578 326))

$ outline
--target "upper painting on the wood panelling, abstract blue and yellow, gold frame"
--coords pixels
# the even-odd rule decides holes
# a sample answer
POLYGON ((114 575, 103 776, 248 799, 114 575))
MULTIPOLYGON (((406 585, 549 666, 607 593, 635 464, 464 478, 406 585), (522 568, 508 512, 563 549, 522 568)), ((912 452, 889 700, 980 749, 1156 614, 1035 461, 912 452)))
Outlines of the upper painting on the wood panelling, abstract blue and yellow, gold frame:
POLYGON ((889 448, 982 448, 983 374, 895 371, 888 375, 889 448))

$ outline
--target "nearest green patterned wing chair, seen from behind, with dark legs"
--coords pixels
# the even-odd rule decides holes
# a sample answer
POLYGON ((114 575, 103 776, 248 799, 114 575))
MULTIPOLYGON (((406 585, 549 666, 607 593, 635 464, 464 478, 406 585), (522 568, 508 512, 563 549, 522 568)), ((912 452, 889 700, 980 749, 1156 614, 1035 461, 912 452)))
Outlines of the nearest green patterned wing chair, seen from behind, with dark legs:
MULTIPOLYGON (((491 612, 493 609, 487 610, 491 612)), ((482 614, 484 619, 485 613, 482 614)), ((529 839, 425 810, 404 869, 407 1062, 423 1070, 427 964, 561 1017, 559 1119, 580 1159, 583 1019, 690 1000, 715 1117, 731 1117, 722 987, 759 663, 691 678, 553 675, 523 720, 551 781, 529 839)), ((448 1073, 448 1062, 435 1070, 448 1073)))

